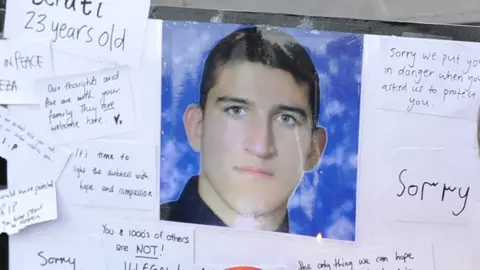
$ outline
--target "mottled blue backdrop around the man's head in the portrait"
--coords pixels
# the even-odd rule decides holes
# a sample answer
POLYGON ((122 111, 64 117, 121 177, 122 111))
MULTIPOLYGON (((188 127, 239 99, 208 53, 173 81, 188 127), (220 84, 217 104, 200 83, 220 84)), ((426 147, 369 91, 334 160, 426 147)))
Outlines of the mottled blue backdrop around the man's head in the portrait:
MULTIPOLYGON (((176 200, 198 174, 200 157, 188 145, 183 113, 199 101, 208 52, 240 25, 164 21, 161 126, 161 203, 176 200)), ((319 125, 328 144, 318 169, 304 175, 289 201, 290 232, 355 240, 357 154, 363 36, 280 28, 310 53, 321 84, 319 125)))

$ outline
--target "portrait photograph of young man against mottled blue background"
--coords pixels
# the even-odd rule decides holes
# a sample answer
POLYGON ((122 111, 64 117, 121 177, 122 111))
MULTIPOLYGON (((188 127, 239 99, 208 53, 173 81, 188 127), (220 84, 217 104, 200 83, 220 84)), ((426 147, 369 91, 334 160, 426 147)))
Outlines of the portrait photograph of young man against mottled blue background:
POLYGON ((164 22, 160 219, 354 240, 362 40, 164 22))

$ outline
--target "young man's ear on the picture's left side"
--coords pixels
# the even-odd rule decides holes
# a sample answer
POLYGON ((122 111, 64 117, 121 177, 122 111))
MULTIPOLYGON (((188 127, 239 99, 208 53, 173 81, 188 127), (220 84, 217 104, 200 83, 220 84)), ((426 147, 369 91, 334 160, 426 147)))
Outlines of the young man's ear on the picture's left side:
POLYGON ((190 105, 183 113, 183 124, 188 143, 196 152, 201 150, 203 111, 198 105, 190 105))

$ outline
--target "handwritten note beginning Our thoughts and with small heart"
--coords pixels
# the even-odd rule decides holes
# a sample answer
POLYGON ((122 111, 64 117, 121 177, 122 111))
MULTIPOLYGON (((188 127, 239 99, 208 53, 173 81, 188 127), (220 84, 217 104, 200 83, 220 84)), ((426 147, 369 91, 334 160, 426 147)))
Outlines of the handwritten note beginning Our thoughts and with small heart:
POLYGON ((105 69, 75 76, 39 80, 45 124, 62 142, 125 133, 135 116, 128 70, 105 69))

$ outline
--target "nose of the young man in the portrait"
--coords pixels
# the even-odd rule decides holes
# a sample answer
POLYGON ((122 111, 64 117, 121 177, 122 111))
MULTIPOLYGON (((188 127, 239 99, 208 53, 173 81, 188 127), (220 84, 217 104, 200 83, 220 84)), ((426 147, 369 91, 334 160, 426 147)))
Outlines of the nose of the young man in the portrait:
POLYGON ((277 154, 275 136, 269 121, 254 121, 246 129, 245 150, 259 158, 268 159, 277 154))

